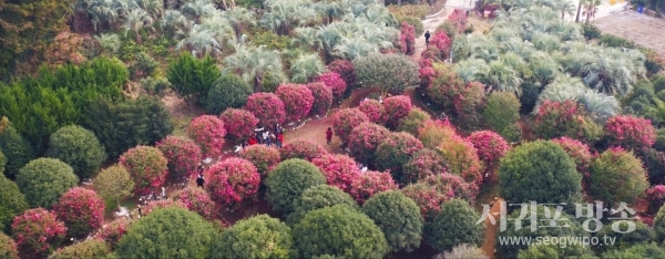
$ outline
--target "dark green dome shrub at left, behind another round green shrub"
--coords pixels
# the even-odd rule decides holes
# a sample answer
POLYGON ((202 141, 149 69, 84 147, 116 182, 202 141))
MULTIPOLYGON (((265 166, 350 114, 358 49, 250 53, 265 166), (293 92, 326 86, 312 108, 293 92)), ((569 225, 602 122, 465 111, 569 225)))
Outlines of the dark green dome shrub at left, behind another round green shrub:
POLYGON ((45 156, 66 163, 79 178, 90 178, 106 160, 106 152, 94 133, 75 125, 51 134, 45 156))

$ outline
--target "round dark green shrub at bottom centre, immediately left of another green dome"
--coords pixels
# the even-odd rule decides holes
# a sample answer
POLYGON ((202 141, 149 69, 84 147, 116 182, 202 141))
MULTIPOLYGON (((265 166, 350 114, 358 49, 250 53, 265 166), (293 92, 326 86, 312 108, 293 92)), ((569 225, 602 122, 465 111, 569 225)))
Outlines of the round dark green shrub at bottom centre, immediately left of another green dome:
POLYGON ((375 195, 361 211, 377 224, 392 251, 412 251, 420 247, 422 225, 418 205, 398 190, 375 195))

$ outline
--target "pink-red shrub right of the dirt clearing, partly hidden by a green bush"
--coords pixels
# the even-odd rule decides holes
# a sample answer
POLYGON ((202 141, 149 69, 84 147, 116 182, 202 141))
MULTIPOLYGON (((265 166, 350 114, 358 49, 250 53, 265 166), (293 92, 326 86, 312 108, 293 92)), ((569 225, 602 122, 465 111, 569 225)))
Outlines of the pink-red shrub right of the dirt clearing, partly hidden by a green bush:
POLYGON ((348 144, 351 156, 364 164, 372 163, 379 144, 390 134, 388 128, 374 124, 361 123, 349 133, 348 144))

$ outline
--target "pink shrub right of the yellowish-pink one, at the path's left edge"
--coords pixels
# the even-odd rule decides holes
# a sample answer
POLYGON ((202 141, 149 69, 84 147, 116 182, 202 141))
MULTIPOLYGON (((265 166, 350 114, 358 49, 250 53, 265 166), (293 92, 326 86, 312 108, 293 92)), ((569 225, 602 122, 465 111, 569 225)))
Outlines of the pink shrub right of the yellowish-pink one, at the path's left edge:
POLYGON ((174 178, 196 174, 196 165, 203 159, 201 147, 192 139, 167 136, 155 145, 168 160, 168 173, 174 178))

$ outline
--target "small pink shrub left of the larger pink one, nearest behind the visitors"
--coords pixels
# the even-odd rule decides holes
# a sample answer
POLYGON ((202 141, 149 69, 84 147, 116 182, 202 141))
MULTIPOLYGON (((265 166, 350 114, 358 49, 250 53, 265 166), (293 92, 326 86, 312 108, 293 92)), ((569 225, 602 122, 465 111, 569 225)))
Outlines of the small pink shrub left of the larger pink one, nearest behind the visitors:
POLYGON ((241 108, 227 108, 219 118, 224 122, 226 136, 235 141, 244 141, 254 135, 258 118, 253 113, 241 108))

